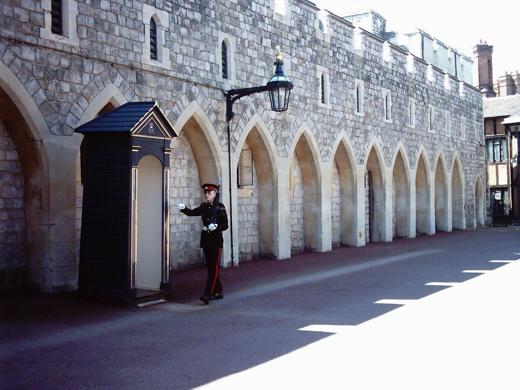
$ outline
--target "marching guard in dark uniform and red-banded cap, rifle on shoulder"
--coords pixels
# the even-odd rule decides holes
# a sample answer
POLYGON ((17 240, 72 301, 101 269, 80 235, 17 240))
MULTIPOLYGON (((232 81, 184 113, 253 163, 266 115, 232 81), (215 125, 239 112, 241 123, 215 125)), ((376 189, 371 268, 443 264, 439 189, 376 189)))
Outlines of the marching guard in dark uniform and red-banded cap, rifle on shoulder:
POLYGON ((188 209, 183 203, 177 205, 181 213, 190 217, 202 217, 202 231, 200 233, 200 248, 204 251, 207 267, 207 281, 204 294, 200 300, 207 305, 213 300, 224 299, 222 284, 218 277, 220 256, 224 246, 222 232, 228 229, 226 207, 220 203, 220 186, 206 183, 202 186, 206 201, 196 209, 188 209))

